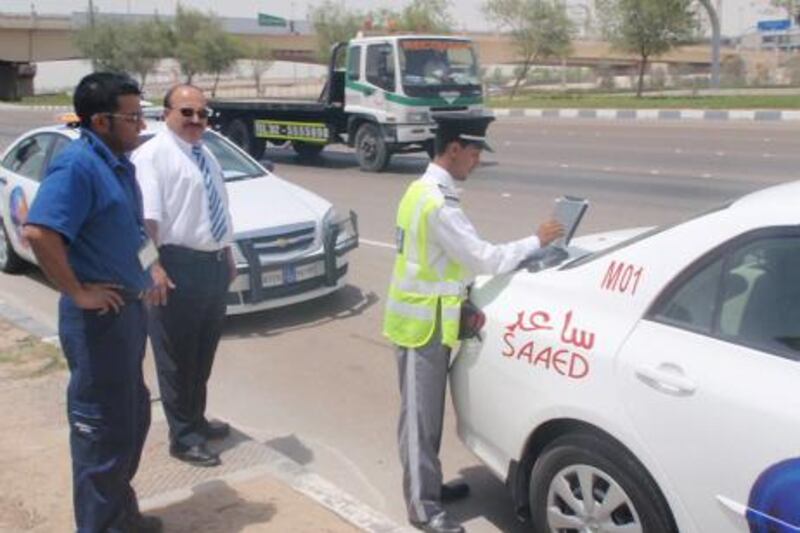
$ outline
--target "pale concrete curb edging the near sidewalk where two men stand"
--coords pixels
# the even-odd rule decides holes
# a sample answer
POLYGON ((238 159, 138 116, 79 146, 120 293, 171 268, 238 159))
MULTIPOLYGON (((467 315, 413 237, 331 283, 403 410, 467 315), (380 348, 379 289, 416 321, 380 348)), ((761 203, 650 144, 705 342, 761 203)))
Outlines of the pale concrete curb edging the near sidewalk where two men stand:
MULTIPOLYGON (((2 300, 0 300, 0 318, 39 337, 43 342, 58 345, 57 332, 2 300)), ((244 481, 264 475, 271 476, 364 531, 370 533, 405 533, 413 531, 360 502, 346 491, 308 470, 290 457, 263 444, 261 446, 264 447, 264 453, 268 457, 266 463, 218 476, 214 479, 244 481)), ((143 499, 140 501, 140 505, 142 509, 152 509, 184 500, 190 495, 191 490, 188 488, 177 489, 143 499)))

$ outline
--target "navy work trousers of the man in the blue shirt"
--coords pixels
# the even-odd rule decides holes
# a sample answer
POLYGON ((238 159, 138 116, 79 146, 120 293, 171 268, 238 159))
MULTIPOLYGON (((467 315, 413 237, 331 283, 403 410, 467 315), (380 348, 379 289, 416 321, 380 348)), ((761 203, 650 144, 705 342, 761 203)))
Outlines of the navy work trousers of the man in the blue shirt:
POLYGON ((75 522, 79 533, 123 532, 139 514, 131 480, 150 427, 142 376, 147 310, 130 300, 119 313, 59 303, 59 337, 70 369, 75 522))

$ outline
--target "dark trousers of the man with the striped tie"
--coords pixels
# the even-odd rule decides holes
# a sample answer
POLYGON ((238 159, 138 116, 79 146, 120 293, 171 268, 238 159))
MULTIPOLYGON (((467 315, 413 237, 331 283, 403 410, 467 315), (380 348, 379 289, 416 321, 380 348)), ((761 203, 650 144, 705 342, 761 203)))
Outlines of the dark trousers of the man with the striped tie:
POLYGON ((172 444, 205 442, 206 384, 222 335, 230 267, 224 252, 164 246, 161 266, 175 284, 150 312, 161 403, 172 444))

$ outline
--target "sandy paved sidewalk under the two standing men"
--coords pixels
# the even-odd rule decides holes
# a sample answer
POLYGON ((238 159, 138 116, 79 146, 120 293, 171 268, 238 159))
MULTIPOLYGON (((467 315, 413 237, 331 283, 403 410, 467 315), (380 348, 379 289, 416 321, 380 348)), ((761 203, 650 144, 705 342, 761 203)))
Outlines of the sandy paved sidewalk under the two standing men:
MULTIPOLYGON (((2 532, 74 527, 67 380, 58 348, 0 318, 2 532)), ((401 531, 247 435, 234 431, 216 449, 223 460, 218 468, 195 468, 169 457, 166 423, 160 405, 153 404, 134 485, 143 512, 161 517, 165 531, 401 531)))

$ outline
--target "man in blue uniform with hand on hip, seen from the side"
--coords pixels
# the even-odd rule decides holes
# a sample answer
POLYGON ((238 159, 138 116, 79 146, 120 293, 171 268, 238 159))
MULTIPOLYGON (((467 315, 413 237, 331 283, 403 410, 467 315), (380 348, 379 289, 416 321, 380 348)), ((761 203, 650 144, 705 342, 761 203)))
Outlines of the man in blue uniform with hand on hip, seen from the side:
POLYGON ((81 138, 48 169, 25 236, 62 293, 75 522, 79 533, 160 531, 158 519, 139 513, 130 483, 150 427, 141 298, 152 249, 125 156, 142 128, 140 91, 127 76, 93 73, 74 105, 81 138))

